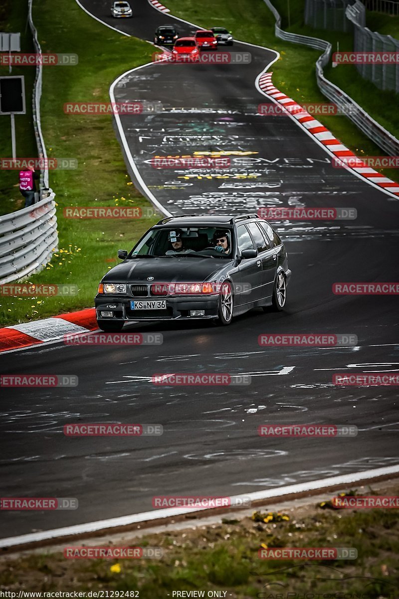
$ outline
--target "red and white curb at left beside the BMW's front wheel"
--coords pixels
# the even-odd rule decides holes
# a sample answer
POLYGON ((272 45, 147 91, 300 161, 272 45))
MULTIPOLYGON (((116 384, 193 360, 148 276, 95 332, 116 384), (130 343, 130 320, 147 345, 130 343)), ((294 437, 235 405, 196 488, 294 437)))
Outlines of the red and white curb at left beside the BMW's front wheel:
POLYGON ((95 308, 0 329, 0 353, 62 339, 64 335, 98 330, 95 308))

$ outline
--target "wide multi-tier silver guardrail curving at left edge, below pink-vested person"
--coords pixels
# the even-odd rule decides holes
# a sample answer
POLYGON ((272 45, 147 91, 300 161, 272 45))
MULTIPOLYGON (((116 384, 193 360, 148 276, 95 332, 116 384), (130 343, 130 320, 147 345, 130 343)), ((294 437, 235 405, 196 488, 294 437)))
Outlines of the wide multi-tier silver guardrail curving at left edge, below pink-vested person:
POLYGON ((57 249, 54 193, 37 204, 0 216, 0 283, 41 270, 57 249))

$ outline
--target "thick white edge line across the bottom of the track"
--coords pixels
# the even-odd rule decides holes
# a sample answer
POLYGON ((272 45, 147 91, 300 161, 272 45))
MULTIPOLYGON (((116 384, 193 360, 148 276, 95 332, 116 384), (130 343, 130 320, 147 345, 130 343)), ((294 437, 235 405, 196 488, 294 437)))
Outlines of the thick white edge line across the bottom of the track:
MULTIPOLYGON (((284 495, 303 493, 330 486, 349 485, 351 483, 360 482, 364 479, 374 479, 379 476, 386 476, 391 474, 399 474, 399 464, 385 466, 383 468, 374 468, 373 470, 366 470, 363 472, 354 472, 351 474, 341 474, 340 476, 331 476, 327 479, 310 480, 309 482, 299 483, 297 485, 288 485, 274 489, 264 489, 263 491, 246 493, 245 497, 248 497, 251 501, 268 499, 270 497, 281 498, 284 495)), ((242 494, 237 495, 236 497, 232 497, 232 501, 239 497, 241 498, 242 494)), ((107 520, 87 522, 86 524, 75 524, 74 526, 56 528, 55 530, 46 530, 40 531, 38 533, 22 534, 17 537, 8 537, 7 539, 0 539, 0 548, 15 547, 20 544, 35 543, 47 539, 59 539, 60 537, 65 537, 73 534, 84 535, 95 531, 120 526, 127 526, 130 524, 157 520, 160 518, 170 518, 171 516, 178 516, 193 512, 205 512, 206 509, 209 508, 198 509, 170 507, 163 510, 152 510, 151 512, 142 512, 138 514, 131 514, 129 516, 120 516, 119 518, 109 518, 107 520)))

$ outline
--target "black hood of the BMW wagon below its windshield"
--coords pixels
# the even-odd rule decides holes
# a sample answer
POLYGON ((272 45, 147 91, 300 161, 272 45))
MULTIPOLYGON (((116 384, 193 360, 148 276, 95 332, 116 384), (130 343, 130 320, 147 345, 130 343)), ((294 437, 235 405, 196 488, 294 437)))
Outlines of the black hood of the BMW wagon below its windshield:
POLYGON ((230 260, 221 258, 136 258, 118 264, 106 273, 106 283, 155 283, 198 282, 209 280, 223 270, 230 260))

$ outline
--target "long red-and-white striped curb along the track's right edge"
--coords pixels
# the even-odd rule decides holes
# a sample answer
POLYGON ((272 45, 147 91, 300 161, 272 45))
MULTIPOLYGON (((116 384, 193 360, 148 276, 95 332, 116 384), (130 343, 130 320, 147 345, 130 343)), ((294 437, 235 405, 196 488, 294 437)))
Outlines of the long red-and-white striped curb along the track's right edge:
POLYGON ((357 159, 356 167, 351 167, 351 165, 342 163, 343 168, 354 171, 358 177, 366 179, 368 183, 373 183, 374 186, 380 187, 385 193, 391 193, 392 195, 399 197, 399 183, 392 181, 392 179, 388 179, 388 177, 385 177, 382 173, 374 171, 373 168, 367 167, 367 165, 361 161, 361 158, 356 156, 351 150, 337 140, 337 138, 334 137, 324 125, 316 120, 314 116, 309 114, 306 110, 303 110, 300 104, 277 89, 272 83, 272 75, 272 72, 263 72, 258 75, 257 84, 264 95, 270 96, 270 98, 275 102, 278 102, 278 104, 281 104, 284 108, 290 107, 290 110, 297 110, 294 114, 287 111, 287 114, 295 119, 300 126, 306 129, 308 134, 313 135, 313 137, 324 146, 325 150, 330 152, 335 158, 357 159))

